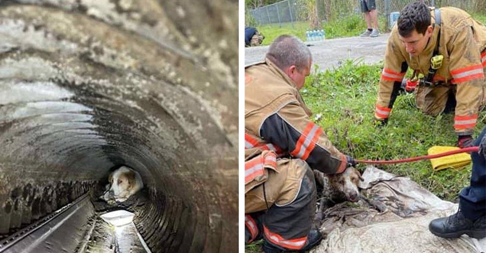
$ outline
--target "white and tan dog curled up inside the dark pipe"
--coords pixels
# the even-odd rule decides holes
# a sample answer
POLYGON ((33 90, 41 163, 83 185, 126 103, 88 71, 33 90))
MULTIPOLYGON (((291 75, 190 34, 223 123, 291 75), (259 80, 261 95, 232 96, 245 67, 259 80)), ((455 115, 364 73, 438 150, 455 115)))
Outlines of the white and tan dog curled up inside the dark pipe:
POLYGON ((127 166, 121 166, 113 171, 108 181, 109 184, 105 186, 105 192, 100 199, 110 205, 127 200, 143 188, 140 174, 127 166))

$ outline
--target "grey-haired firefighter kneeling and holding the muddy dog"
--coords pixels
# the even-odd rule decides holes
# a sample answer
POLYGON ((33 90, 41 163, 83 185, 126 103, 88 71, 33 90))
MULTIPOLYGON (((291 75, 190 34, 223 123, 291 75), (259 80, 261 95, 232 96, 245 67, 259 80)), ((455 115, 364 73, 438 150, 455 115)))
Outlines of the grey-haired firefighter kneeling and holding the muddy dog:
POLYGON ((312 169, 335 174, 354 164, 310 120, 299 90, 311 63, 306 45, 282 35, 245 68, 245 244, 263 238, 266 253, 319 244, 312 169))

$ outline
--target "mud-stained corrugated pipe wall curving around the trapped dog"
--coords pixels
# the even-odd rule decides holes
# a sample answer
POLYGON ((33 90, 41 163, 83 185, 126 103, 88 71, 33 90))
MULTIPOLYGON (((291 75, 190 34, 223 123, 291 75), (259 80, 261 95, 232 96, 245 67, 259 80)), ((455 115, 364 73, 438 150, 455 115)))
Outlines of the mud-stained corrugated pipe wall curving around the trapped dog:
POLYGON ((236 251, 238 2, 0 5, 0 241, 126 164, 152 252, 236 251))

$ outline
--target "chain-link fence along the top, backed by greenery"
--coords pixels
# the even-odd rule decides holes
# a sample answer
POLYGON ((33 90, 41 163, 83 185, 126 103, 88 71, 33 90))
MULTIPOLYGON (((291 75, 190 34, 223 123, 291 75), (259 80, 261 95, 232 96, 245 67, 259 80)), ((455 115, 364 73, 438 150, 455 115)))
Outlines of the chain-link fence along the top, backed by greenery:
MULTIPOLYGON (((282 24, 306 20, 306 2, 309 0, 284 0, 260 8, 246 10, 253 25, 282 24)), ((376 0, 379 15, 386 18, 392 12, 400 11, 415 0, 376 0)), ((468 12, 486 11, 486 0, 425 0, 430 6, 454 6, 468 12)), ((331 20, 361 13, 359 0, 315 0, 321 20, 331 20)), ((387 22, 388 23, 388 22, 387 22)))

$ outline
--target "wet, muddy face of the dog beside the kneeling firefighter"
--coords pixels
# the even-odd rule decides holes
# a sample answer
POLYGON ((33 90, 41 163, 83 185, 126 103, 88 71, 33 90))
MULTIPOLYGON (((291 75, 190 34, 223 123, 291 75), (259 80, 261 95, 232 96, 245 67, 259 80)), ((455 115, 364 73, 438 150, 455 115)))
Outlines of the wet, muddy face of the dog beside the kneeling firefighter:
POLYGON ((359 181, 363 181, 360 172, 353 168, 348 167, 341 174, 328 175, 329 183, 332 188, 341 192, 347 200, 351 202, 357 202, 359 200, 359 181))

